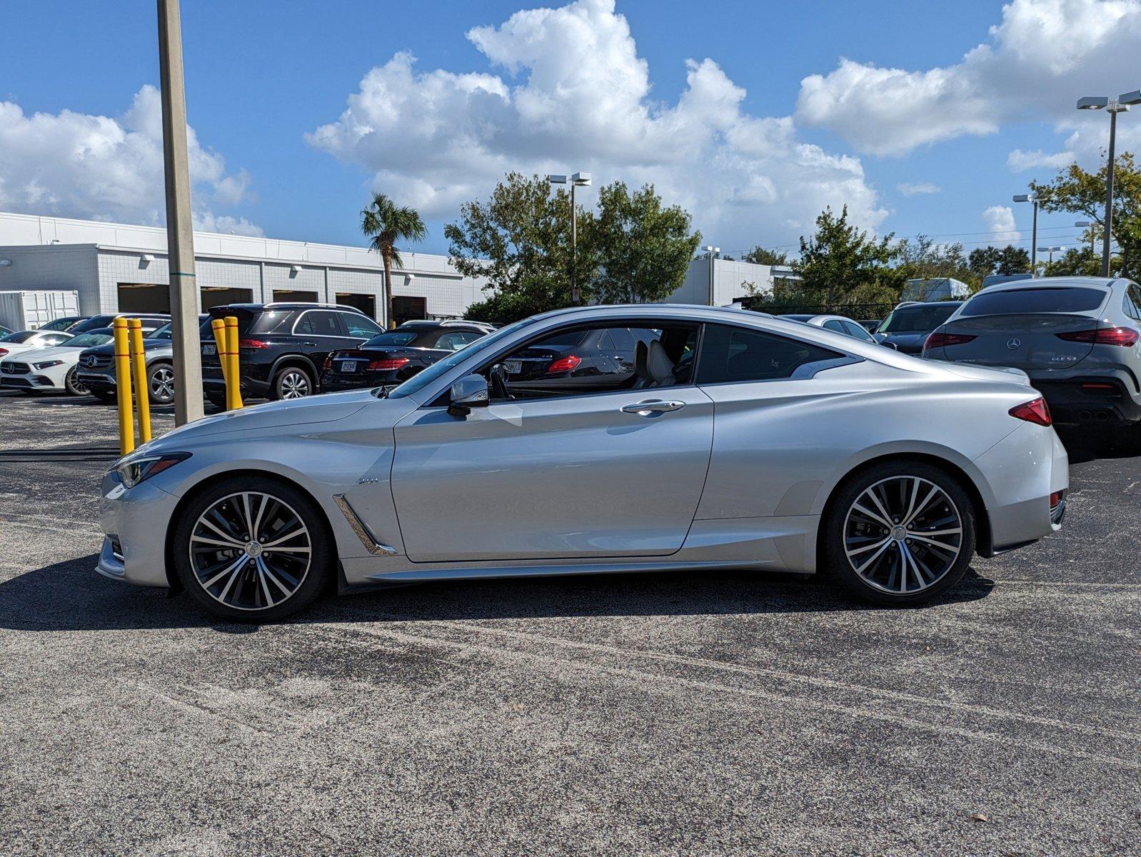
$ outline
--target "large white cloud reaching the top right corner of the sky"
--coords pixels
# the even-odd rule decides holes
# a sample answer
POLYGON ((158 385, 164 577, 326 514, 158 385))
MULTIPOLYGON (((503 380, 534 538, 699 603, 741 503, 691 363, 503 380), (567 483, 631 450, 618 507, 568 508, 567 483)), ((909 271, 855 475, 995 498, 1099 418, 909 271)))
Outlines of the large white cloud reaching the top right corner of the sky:
POLYGON ((1139 50, 1136 0, 1012 0, 962 62, 905 71, 841 59, 801 81, 795 116, 876 155, 994 134, 1011 121, 1095 126, 1103 140, 1103 122, 1078 116, 1075 103, 1135 86, 1139 50))

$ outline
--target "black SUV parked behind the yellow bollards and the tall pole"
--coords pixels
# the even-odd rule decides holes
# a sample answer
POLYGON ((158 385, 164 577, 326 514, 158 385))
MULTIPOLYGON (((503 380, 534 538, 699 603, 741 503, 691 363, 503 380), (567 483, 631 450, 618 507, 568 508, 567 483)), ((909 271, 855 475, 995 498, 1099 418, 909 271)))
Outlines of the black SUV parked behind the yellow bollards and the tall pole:
MULTIPOLYGON (((318 393, 325 358, 356 348, 382 333, 354 307, 335 304, 230 304, 213 307, 211 318, 237 318, 238 377, 243 398, 301 398, 318 393)), ((226 402, 218 348, 209 325, 202 334, 202 381, 207 398, 226 402)))

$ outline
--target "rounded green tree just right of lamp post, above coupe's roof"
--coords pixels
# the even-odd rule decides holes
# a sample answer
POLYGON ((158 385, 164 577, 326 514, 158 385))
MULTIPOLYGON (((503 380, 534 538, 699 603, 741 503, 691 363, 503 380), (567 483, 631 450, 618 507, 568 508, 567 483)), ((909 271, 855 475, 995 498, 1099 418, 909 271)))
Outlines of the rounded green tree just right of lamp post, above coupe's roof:
POLYGON ((632 194, 623 181, 599 188, 598 215, 586 224, 576 270, 600 304, 664 300, 685 283, 702 241, 689 212, 663 207, 653 185, 632 194))

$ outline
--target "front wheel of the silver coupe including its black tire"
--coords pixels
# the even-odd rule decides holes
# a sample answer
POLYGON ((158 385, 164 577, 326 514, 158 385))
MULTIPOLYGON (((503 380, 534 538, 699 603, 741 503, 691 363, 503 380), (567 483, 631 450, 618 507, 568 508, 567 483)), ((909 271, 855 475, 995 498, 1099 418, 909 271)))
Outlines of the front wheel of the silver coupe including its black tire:
POLYGON ((329 523, 313 499, 286 483, 268 477, 227 477, 202 486, 180 511, 171 548, 175 571, 191 597, 216 616, 243 622, 273 622, 304 609, 325 590, 337 561, 329 523), (242 495, 250 498, 250 515, 258 524, 254 535, 267 547, 258 547, 257 553, 251 553, 250 548, 222 548, 201 541, 203 537, 218 541, 218 531, 200 520, 208 510, 211 510, 209 519, 229 529, 235 543, 241 541, 240 536, 250 535, 249 532, 230 529, 226 524, 228 512, 236 516, 240 526, 243 520, 249 523, 243 518, 242 495), (272 506, 266 501, 267 506, 261 508, 265 515, 258 512, 259 495, 272 498, 276 503, 272 506), (293 518, 304 525, 305 534, 286 537, 281 550, 272 550, 269 543, 280 540, 283 531, 294 526, 290 523, 293 518), (278 525, 281 528, 275 529, 278 525), (308 550, 309 559, 304 571, 298 558, 306 553, 282 552, 297 551, 302 545, 308 550), (242 560, 234 572, 228 571, 232 560, 242 560), (262 574, 262 563, 273 571, 262 574), (213 583, 208 590, 204 584, 211 581, 213 583), (294 583, 296 588, 285 595, 294 583))

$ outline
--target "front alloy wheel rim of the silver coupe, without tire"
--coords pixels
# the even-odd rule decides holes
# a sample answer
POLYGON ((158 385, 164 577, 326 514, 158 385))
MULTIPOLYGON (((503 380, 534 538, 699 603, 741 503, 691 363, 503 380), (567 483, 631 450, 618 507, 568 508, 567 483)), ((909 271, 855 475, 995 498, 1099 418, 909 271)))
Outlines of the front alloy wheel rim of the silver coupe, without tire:
POLYGON ((191 569, 211 598, 234 609, 260 611, 301 588, 313 542, 292 507, 249 491, 224 496, 199 516, 189 553, 191 569))

